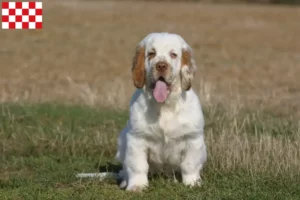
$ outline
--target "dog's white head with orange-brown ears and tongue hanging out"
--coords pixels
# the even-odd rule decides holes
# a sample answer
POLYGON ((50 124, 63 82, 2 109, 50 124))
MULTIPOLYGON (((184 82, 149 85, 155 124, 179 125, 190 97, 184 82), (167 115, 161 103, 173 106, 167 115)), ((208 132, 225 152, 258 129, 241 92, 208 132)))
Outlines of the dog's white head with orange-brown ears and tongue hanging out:
POLYGON ((135 87, 152 91, 164 102, 173 90, 192 86, 196 70, 191 47, 177 34, 151 33, 136 47, 132 63, 135 87))

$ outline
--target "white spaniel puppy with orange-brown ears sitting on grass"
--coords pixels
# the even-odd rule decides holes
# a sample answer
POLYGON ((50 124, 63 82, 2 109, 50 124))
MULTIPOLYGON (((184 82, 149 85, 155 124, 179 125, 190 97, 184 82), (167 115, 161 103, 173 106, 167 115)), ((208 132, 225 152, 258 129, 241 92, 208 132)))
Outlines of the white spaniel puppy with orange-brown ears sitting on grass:
POLYGON ((121 188, 148 186, 148 172, 180 171, 185 185, 199 185, 207 159, 204 117, 192 89, 191 47, 170 33, 151 33, 137 46, 132 79, 137 88, 130 117, 118 138, 121 188))

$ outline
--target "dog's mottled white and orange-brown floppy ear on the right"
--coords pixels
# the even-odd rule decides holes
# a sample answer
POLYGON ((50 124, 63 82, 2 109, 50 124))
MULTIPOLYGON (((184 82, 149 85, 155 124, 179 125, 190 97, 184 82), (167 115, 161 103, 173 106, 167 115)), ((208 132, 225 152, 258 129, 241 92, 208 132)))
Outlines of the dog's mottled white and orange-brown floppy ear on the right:
POLYGON ((193 59, 192 49, 188 46, 182 49, 181 57, 181 88, 189 90, 196 72, 196 63, 193 59))

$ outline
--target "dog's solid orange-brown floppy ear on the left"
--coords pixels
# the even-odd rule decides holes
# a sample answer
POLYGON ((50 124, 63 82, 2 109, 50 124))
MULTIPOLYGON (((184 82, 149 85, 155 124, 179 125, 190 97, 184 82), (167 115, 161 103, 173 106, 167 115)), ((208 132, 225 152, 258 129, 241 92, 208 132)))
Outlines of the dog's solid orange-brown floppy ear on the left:
POLYGON ((145 73, 145 47, 139 45, 132 61, 132 80, 135 87, 144 87, 145 73))

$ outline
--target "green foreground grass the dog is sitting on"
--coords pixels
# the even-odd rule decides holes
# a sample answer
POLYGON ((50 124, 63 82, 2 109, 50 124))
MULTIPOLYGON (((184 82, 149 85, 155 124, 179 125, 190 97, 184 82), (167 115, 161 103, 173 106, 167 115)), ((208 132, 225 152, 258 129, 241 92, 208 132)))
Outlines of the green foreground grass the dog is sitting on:
MULTIPOLYGON (((129 193, 120 190, 115 180, 80 180, 74 176, 120 168, 114 160, 116 136, 126 123, 127 111, 51 104, 2 105, 0 111, 1 200, 300 199, 299 162, 294 160, 299 158, 299 124, 293 118, 250 111, 233 115, 218 107, 207 108, 209 161, 202 173, 202 187, 191 189, 158 177, 151 179, 143 193, 129 193), (250 160, 225 165, 229 155, 216 146, 226 144, 213 139, 224 137, 222 132, 229 130, 237 130, 232 134, 241 138, 246 133, 250 142, 264 134, 287 141, 283 147, 289 148, 282 151, 289 159, 282 163, 276 156, 272 160, 263 154, 265 157, 259 159, 270 160, 270 166, 262 170, 261 162, 252 162, 255 157, 245 154, 250 160)), ((255 153, 255 144, 249 144, 255 153)))

